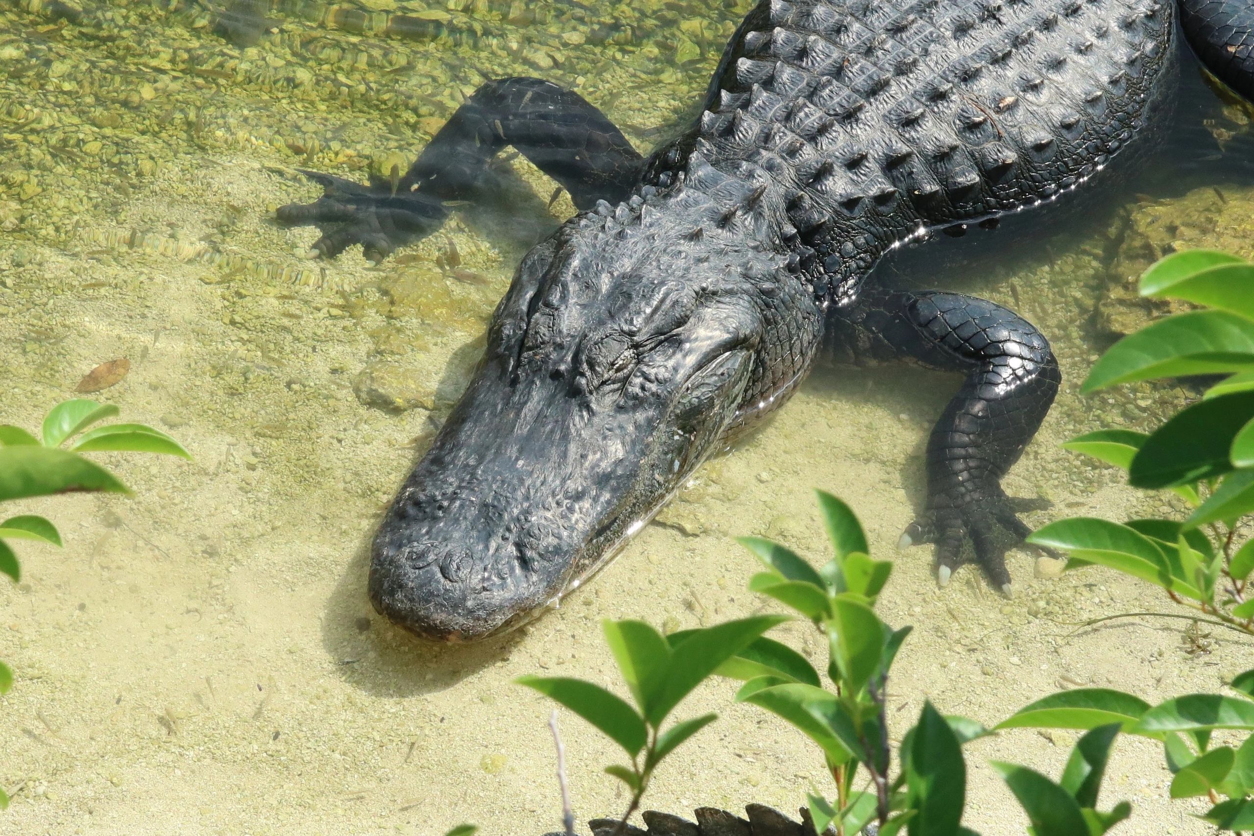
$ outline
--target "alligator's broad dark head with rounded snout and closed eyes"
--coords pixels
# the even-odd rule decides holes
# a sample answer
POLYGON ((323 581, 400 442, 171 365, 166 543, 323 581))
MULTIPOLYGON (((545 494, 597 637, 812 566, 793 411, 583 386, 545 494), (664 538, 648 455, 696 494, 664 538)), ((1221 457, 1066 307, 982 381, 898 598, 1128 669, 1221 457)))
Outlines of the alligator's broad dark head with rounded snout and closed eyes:
POLYGON ((705 196, 602 203, 527 254, 375 538, 381 614, 443 640, 517 627, 791 391, 818 307, 795 258, 751 248, 769 237, 727 229, 726 213, 720 229, 712 211, 705 196))

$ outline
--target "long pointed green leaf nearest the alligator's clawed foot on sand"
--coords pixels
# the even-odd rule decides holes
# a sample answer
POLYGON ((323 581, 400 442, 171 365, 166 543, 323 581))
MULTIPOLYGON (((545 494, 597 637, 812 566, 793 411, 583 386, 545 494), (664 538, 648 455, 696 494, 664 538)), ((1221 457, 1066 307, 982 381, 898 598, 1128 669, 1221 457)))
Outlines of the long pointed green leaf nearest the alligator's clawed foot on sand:
POLYGON ((1028 535, 1027 541, 1070 551, 1076 565, 1096 563, 1147 580, 1196 600, 1203 594, 1178 577, 1167 555, 1140 531, 1110 520, 1073 516, 1050 523, 1028 535))

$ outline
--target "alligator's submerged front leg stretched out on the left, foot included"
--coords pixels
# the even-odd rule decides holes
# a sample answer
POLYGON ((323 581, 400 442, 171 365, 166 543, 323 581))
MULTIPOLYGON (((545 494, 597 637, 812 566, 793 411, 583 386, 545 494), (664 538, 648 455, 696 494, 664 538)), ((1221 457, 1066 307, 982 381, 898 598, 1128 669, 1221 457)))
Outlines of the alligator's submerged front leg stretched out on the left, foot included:
POLYGON ((403 177, 372 177, 365 185, 303 172, 322 185, 322 197, 280 207, 277 217, 316 226, 322 237, 314 247, 326 257, 360 243, 380 261, 438 229, 449 202, 473 199, 505 145, 561 183, 581 209, 598 199, 617 203, 640 179, 641 155, 583 97, 540 79, 498 79, 456 109, 403 177))

